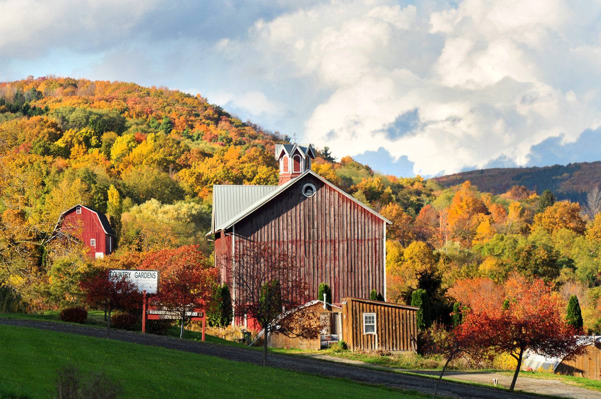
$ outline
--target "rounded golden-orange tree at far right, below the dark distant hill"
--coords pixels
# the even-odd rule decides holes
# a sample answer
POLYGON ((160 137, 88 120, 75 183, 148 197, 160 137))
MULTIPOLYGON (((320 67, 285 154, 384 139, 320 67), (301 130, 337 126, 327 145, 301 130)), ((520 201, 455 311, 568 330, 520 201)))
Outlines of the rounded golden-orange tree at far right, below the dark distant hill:
POLYGON ((542 227, 550 234, 562 228, 584 234, 586 224, 580 217, 580 205, 571 201, 561 201, 546 207, 543 212, 534 216, 532 228, 542 227))

